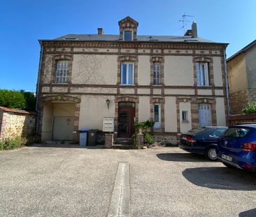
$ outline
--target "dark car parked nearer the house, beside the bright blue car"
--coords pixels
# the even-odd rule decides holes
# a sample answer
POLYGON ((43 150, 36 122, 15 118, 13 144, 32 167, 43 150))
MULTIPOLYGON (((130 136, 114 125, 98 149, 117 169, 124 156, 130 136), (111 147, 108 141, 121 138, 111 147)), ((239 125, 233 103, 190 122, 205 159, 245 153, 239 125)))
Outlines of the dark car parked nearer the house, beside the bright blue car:
POLYGON ((227 130, 226 126, 206 126, 180 135, 180 149, 194 154, 203 154, 210 160, 217 160, 218 137, 227 130))

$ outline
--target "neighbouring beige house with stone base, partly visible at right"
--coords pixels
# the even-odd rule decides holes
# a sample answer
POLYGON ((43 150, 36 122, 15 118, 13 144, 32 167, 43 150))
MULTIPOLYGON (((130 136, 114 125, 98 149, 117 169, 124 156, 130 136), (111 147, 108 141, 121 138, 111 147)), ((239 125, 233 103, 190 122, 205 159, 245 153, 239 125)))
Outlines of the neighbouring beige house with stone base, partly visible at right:
POLYGON ((256 101, 256 40, 227 59, 230 113, 256 101))

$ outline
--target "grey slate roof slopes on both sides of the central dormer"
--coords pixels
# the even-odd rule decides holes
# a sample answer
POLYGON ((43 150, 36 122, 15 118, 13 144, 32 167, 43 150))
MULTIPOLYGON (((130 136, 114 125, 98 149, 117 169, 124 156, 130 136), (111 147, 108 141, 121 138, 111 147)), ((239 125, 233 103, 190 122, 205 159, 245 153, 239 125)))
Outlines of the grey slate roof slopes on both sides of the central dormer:
MULTIPOLYGON (((119 35, 107 35, 107 34, 67 34, 53 40, 80 40, 80 41, 120 41, 119 35)), ((141 42, 193 42, 193 43, 213 43, 211 40, 204 38, 192 38, 191 36, 137 36, 136 41, 141 42)))

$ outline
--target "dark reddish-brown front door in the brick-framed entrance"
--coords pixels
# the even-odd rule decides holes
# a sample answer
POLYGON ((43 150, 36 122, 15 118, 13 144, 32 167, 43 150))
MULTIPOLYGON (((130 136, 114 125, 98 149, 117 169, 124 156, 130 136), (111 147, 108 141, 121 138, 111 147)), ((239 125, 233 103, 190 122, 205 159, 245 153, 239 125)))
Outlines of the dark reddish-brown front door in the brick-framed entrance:
POLYGON ((134 134, 134 103, 119 103, 118 137, 131 137, 134 134))

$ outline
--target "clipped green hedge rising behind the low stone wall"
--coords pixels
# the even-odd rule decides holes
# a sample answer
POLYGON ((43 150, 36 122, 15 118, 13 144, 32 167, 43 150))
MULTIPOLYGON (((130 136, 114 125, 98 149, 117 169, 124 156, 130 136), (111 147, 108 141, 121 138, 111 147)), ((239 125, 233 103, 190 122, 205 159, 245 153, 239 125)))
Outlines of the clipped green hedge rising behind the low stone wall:
POLYGON ((0 106, 34 111, 36 98, 31 92, 0 89, 0 106))

